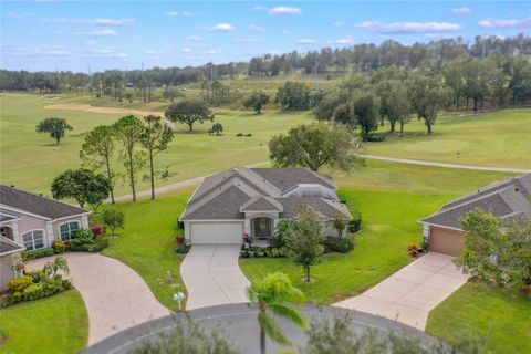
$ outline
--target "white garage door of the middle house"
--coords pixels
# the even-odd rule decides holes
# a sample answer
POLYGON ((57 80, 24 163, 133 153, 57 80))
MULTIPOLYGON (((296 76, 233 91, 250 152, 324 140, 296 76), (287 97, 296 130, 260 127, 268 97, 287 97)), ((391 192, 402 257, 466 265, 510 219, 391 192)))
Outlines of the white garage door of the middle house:
POLYGON ((201 243, 241 243, 243 222, 190 222, 190 241, 201 243))

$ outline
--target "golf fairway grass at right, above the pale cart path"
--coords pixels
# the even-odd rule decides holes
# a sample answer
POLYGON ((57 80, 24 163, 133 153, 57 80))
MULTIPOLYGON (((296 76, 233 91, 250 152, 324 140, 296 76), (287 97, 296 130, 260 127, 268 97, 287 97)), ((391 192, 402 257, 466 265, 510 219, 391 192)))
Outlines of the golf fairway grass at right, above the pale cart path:
MULTIPOLYGON (((382 128, 387 129, 388 125, 382 128)), ((425 132, 421 121, 412 119, 405 138, 388 134, 384 143, 364 144, 364 152, 439 163, 531 168, 531 110, 446 114, 438 118, 434 134, 425 132)))

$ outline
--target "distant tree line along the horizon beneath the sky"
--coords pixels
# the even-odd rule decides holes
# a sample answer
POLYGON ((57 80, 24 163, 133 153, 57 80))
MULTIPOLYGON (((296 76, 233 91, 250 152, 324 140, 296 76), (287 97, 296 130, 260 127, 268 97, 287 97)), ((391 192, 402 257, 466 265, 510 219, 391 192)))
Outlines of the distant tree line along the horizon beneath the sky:
MULTIPOLYGON (((95 96, 112 100, 131 100, 125 88, 135 88, 143 102, 153 100, 156 87, 175 86, 191 82, 236 79, 237 76, 274 76, 295 71, 305 73, 372 72, 381 67, 420 67, 441 70, 447 62, 470 58, 514 58, 531 54, 531 38, 519 34, 513 38, 476 37, 472 44, 461 38, 445 39, 429 43, 405 45, 385 41, 379 45, 356 44, 350 48, 323 48, 320 51, 300 53, 293 51, 281 55, 267 54, 249 62, 227 64, 208 63, 201 66, 153 67, 149 70, 108 70, 94 73, 0 71, 0 90, 39 91, 41 93, 73 93, 88 91, 95 96)), ((506 60, 506 59, 502 59, 506 60)), ((209 100, 223 101, 223 87, 201 87, 208 91, 209 100)), ((209 84, 211 85, 211 84, 209 84)), ((131 94, 131 93, 129 93, 131 94)))

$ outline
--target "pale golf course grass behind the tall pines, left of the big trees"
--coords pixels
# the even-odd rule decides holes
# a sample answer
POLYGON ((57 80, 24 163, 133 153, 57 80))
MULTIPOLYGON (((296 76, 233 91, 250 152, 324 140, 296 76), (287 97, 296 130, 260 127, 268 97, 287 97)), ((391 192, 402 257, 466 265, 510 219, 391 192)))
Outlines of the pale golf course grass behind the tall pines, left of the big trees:
MULTIPOLYGON (((0 180, 37 192, 50 194, 54 177, 67 168, 80 166, 79 152, 84 137, 98 124, 112 124, 124 114, 101 114, 82 111, 45 110, 46 105, 81 101, 81 97, 54 97, 48 95, 4 94, 0 96, 0 180), (48 135, 35 133, 39 121, 60 116, 74 127, 61 145, 53 145, 48 135)), ((168 150, 156 158, 159 170, 169 167, 175 175, 157 185, 216 173, 233 166, 243 166, 269 158, 268 142, 274 134, 309 122, 310 113, 267 112, 256 115, 248 111, 217 111, 216 121, 223 125, 223 136, 209 136, 206 131, 211 123, 197 124, 196 133, 188 134, 178 125, 168 150), (252 137, 236 137, 237 133, 251 133, 252 137)), ((121 171, 124 167, 115 164, 121 171)), ((147 173, 147 167, 146 167, 147 173)), ((138 190, 148 189, 142 180, 138 190)), ((127 184, 119 180, 117 194, 128 194, 127 184)))

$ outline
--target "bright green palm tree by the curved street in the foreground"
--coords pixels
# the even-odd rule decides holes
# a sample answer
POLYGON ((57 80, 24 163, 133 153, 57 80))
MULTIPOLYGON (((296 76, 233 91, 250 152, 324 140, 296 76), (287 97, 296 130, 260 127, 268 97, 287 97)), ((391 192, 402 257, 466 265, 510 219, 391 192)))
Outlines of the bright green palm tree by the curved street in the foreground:
POLYGON ((303 293, 291 284, 291 281, 283 273, 277 272, 268 274, 261 281, 256 281, 247 288, 249 301, 258 305, 258 324, 260 325, 260 353, 266 354, 266 336, 271 341, 291 345, 291 342, 284 336, 274 317, 268 313, 288 319, 299 326, 308 326, 306 319, 296 309, 288 302, 304 302, 303 293))

